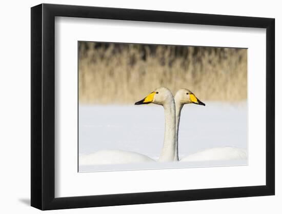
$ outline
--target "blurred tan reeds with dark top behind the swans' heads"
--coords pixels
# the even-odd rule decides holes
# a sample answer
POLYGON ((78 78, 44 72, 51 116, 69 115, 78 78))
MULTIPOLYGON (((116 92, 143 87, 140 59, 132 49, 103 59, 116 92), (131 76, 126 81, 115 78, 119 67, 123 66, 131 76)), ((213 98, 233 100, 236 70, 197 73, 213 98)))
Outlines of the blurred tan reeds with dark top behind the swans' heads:
POLYGON ((155 88, 247 99, 247 49, 78 42, 80 104, 133 104, 155 88))

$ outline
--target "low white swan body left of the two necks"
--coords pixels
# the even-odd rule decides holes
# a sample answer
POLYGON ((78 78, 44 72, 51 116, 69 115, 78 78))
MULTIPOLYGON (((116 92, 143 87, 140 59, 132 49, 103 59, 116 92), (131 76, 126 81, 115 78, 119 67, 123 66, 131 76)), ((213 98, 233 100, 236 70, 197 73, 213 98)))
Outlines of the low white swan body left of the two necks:
POLYGON ((155 162, 146 155, 123 150, 100 150, 93 154, 84 154, 79 157, 80 165, 129 164, 155 162))

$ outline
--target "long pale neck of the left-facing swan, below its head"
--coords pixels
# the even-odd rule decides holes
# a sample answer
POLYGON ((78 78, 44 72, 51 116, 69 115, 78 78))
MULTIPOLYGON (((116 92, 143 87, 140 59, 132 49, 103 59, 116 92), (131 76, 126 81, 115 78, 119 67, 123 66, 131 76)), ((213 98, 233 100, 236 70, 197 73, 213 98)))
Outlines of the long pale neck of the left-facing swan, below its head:
POLYGON ((175 153, 175 103, 172 99, 164 104, 165 109, 165 139, 159 161, 178 161, 178 153, 175 153))

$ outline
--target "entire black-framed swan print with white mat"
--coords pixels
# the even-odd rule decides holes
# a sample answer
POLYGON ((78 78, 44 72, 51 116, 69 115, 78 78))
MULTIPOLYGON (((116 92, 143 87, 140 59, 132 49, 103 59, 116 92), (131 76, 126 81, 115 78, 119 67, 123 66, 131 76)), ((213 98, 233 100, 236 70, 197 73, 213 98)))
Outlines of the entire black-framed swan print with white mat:
POLYGON ((31 206, 267 196, 274 19, 31 8, 31 206))

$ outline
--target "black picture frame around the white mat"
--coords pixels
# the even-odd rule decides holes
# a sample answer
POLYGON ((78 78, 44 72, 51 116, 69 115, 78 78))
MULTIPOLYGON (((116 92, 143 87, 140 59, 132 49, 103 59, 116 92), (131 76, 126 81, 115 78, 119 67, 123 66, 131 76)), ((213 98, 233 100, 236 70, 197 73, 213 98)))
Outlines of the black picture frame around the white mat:
MULTIPOLYGON (((31 8, 31 206, 42 210, 275 193, 274 18, 41 4, 31 8), (55 198, 55 16, 266 29, 266 185, 55 198)), ((74 157, 75 158, 75 157, 74 157)))

